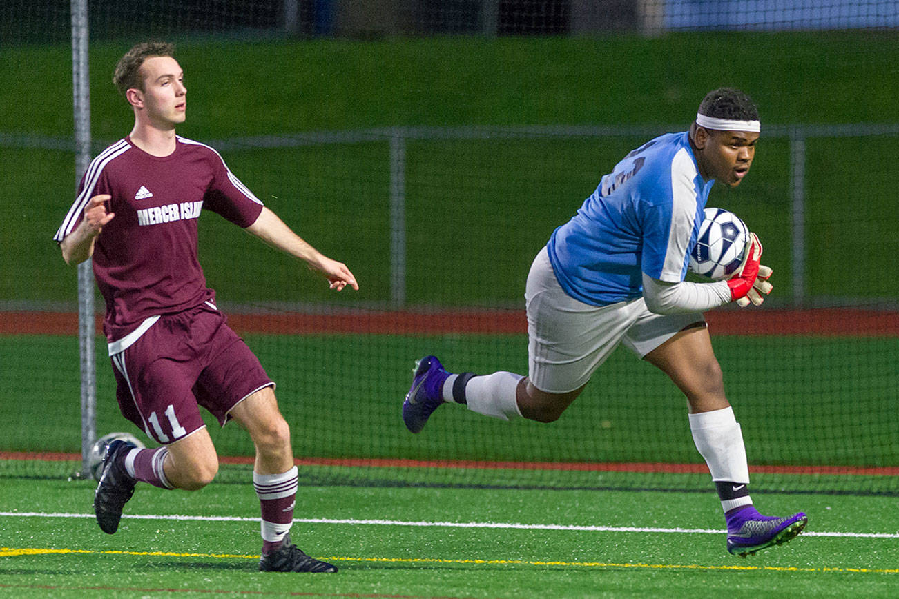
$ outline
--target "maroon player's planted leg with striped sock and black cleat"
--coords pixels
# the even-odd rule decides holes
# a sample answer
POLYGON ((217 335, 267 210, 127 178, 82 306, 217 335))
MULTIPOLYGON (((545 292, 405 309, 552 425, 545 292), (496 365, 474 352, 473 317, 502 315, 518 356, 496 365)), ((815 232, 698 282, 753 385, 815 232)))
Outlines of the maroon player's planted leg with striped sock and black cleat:
POLYGON ((262 509, 263 555, 259 569, 269 572, 336 572, 334 565, 310 558, 290 542, 297 497, 290 428, 278 410, 271 387, 241 401, 231 416, 253 439, 256 458, 253 484, 262 509))

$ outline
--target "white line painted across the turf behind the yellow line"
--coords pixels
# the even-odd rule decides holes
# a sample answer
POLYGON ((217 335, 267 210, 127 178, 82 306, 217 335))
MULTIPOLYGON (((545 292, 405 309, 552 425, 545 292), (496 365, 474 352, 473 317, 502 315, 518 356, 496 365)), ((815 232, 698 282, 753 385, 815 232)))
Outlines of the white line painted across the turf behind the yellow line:
MULTIPOLYGON (((93 518, 93 514, 62 514, 43 512, 0 512, 0 517, 11 518, 93 518)), ((125 514, 122 518, 133 520, 191 520, 200 522, 259 522, 259 518, 239 515, 157 515, 125 514)), ((296 524, 368 524, 374 526, 423 526, 443 528, 500 528, 540 531, 585 531, 594 533, 681 533, 722 534, 724 530, 710 528, 659 528, 654 526, 598 526, 592 524, 521 524, 515 522, 429 522, 407 520, 357 520, 353 518, 294 518, 296 524)), ((827 533, 809 531, 803 536, 856 537, 868 539, 899 539, 899 533, 827 533)))

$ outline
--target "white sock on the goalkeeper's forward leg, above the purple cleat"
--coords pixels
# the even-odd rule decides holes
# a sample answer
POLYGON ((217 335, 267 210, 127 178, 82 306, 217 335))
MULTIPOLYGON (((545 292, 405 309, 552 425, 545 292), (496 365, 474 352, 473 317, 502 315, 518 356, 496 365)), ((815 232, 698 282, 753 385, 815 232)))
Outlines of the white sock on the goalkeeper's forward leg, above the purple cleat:
MULTIPOLYGON (((734 409, 728 406, 723 410, 690 414, 689 418, 693 443, 706 460, 712 480, 748 485, 746 447, 743 445, 743 431, 734 418, 734 409)), ((726 512, 749 504, 752 504, 752 499, 747 495, 722 501, 721 507, 726 512)))

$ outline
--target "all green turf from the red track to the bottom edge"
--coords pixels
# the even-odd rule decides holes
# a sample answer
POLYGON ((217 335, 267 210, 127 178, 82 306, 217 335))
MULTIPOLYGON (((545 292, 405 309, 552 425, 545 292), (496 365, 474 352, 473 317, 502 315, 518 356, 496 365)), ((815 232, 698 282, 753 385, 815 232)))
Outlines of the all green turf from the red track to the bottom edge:
MULTIPOLYGON (((521 367, 521 336, 246 339, 280 383, 298 456, 442 458, 449 467, 301 465, 293 539, 341 568, 312 576, 256 571, 258 501, 246 465, 223 465, 217 481, 194 494, 141 485, 120 532, 108 536, 93 522, 93 483, 61 474, 75 462, 2 460, 0 595, 887 597, 899 589, 899 494, 889 474, 895 415, 877 410, 896 388, 888 368, 893 337, 714 338, 725 381, 736 378, 732 369, 744 352, 758 357, 752 394, 730 388, 756 505, 770 515, 805 511, 810 521, 793 542, 748 559, 725 551, 708 472, 666 472, 663 464, 642 473, 451 467, 450 459, 554 454, 699 462, 682 398, 626 351, 613 354, 602 383, 553 425, 509 425, 446 408, 413 436, 402 427, 399 401, 414 357, 435 351, 482 372, 521 367), (327 376, 333 371, 348 373, 350 382, 335 384, 327 376), (320 416, 325 404, 330 418, 320 416), (797 416, 786 433, 766 433, 772 410, 797 416), (852 475, 754 470, 803 462, 882 468, 852 475)), ((77 448, 76 346, 55 335, 0 336, 0 378, 18 399, 0 409, 0 449, 77 448), (28 372, 44 375, 25 384, 28 372)), ((98 356, 98 431, 137 432, 118 415, 110 379, 98 356)), ((237 427, 210 432, 223 456, 250 454, 237 427)))

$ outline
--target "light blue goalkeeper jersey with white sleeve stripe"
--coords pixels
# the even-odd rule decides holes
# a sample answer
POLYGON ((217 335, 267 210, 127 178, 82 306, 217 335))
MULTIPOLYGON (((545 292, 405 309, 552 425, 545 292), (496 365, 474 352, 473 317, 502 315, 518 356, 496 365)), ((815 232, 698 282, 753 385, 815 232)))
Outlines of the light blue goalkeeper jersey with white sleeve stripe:
POLYGON ((625 156, 553 232, 547 250, 565 293, 607 305, 643 295, 643 273, 683 280, 715 182, 699 175, 688 136, 665 134, 625 156))

